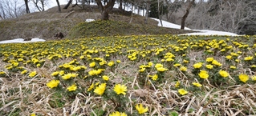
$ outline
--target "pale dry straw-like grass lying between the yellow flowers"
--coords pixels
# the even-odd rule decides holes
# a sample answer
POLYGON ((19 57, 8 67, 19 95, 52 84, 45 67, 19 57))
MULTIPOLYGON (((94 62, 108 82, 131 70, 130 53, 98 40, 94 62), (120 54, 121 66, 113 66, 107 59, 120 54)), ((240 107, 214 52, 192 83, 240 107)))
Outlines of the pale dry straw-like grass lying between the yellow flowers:
MULTIPOLYGON (((118 38, 126 38, 125 40, 133 42, 136 39, 145 37, 146 36, 132 36, 132 41, 130 41, 130 38, 128 39, 128 37, 118 38)), ((159 40, 159 43, 161 43, 160 41, 168 40, 168 38, 172 38, 172 36, 162 35, 161 37, 148 37, 148 39, 150 38, 154 38, 157 40, 152 41, 158 42, 159 40)), ((179 38, 184 39, 186 37, 179 38)), ((224 39, 224 37, 220 38, 224 39)), ((72 48, 74 50, 79 50, 81 49, 80 44, 84 44, 88 40, 90 40, 91 43, 94 43, 94 41, 100 42, 101 39, 87 38, 87 40, 80 39, 77 41, 65 40, 59 42, 46 42, 46 44, 35 43, 32 48, 37 48, 37 46, 45 45, 45 47, 55 46, 56 48, 53 50, 62 48, 62 46, 66 46, 67 48, 72 48), (79 46, 78 49, 75 49, 76 46, 79 46)), ((106 40, 109 40, 109 38, 106 40)), ((172 44, 175 43, 176 42, 173 42, 172 44)), ((229 44, 231 44, 231 42, 229 44)), ((2 45, 3 48, 5 48, 2 51, 8 51, 6 47, 12 48, 16 46, 18 48, 21 45, 31 46, 30 44, 10 44, 7 46, 2 45)), ((92 49, 95 46, 99 47, 100 49, 101 47, 108 46, 108 42, 95 43, 91 44, 88 47, 92 49)), ((163 46, 161 46, 160 44, 157 47, 163 46)), ((22 46, 22 48, 26 50, 26 47, 22 46)), ((128 50, 140 49, 131 46, 129 47, 128 50)), ((109 82, 112 86, 116 83, 123 83, 125 86, 128 87, 128 92, 125 95, 125 98, 128 98, 128 102, 125 105, 125 112, 128 115, 136 115, 135 106, 137 103, 142 103, 144 106, 148 106, 148 112, 145 115, 170 115, 173 112, 177 112, 177 114, 179 115, 195 116, 242 116, 256 114, 255 82, 233 85, 224 82, 222 83, 223 85, 221 86, 213 86, 209 81, 207 81, 203 84, 201 89, 196 91, 190 90, 188 94, 181 95, 178 93, 177 88, 175 88, 174 86, 177 80, 181 81, 182 86, 185 89, 189 89, 189 86, 193 86, 191 82, 194 81, 194 79, 191 79, 192 77, 189 77, 189 74, 183 74, 180 70, 169 69, 165 73, 165 78, 164 80, 162 80, 162 82, 157 83, 152 79, 148 79, 146 80, 144 85, 141 85, 141 75, 138 71, 138 67, 143 64, 147 64, 148 61, 142 58, 143 60, 137 60, 136 62, 132 62, 127 58, 127 49, 121 49, 120 51, 122 51, 125 54, 119 55, 118 53, 116 53, 115 55, 111 55, 111 57, 108 58, 108 61, 120 60, 120 65, 116 66, 114 70, 106 68, 107 70, 104 72, 104 74, 108 74, 111 77, 109 82)), ((3 53, 4 52, 2 52, 2 54, 3 53)), ((254 51, 252 51, 252 53, 254 53, 254 51)), ((0 54, 0 56, 2 54, 0 54)), ((81 52, 80 54, 83 54, 83 52, 81 52)), ((188 57, 190 58, 189 66, 187 66, 189 69, 193 68, 193 64, 195 62, 205 60, 205 57, 203 57, 202 55, 204 54, 202 50, 189 50, 187 54, 188 57)), ((176 61, 182 62, 183 58, 181 57, 181 54, 176 55, 176 61)), ((104 56, 105 53, 102 51, 98 55, 98 57, 100 58, 104 58, 104 56)), ((218 61, 223 61, 222 58, 218 56, 219 54, 216 54, 214 58, 218 61)), ((154 52, 153 54, 147 57, 151 58, 151 61, 154 63, 161 62, 161 58, 156 57, 154 52)), ((24 66, 26 70, 36 70, 38 72, 38 74, 34 78, 29 78, 28 74, 20 74, 20 71, 9 72, 8 70, 6 70, 5 67, 9 63, 2 62, 4 60, 3 56, 0 59, 0 72, 6 72, 5 76, 0 78, 0 115, 30 115, 32 113, 35 113, 37 115, 49 116, 108 115, 114 112, 117 108, 115 102, 111 100, 104 100, 104 98, 100 95, 87 93, 86 90, 83 90, 83 92, 76 94, 74 98, 68 98, 64 96, 64 93, 59 93, 58 91, 51 90, 46 86, 47 82, 49 82, 52 79, 55 79, 51 76, 51 73, 55 70, 59 70, 59 66, 63 65, 64 63, 71 62, 72 60, 77 59, 80 64, 88 67, 88 64, 90 62, 82 62, 81 60, 79 60, 79 56, 70 58, 59 58, 59 60, 55 62, 52 62, 51 60, 48 60, 47 57, 45 57, 43 59, 45 59, 46 61, 44 62, 42 67, 34 67, 29 65, 24 66)), ((224 67, 228 65, 226 64, 226 62, 221 63, 223 64, 223 69, 225 69, 224 67)), ((242 65, 242 67, 246 67, 245 64, 242 65)), ((240 70, 237 71, 242 72, 244 70, 248 70, 248 68, 242 67, 240 67, 240 70)), ((85 71, 87 72, 88 70, 90 69, 87 69, 85 71)), ((228 79, 227 82, 237 82, 238 80, 234 79, 235 77, 231 76, 231 74, 237 74, 238 72, 230 72, 230 78, 228 79)), ((154 73, 156 73, 156 70, 152 70, 148 72, 148 74, 146 75, 154 73)), ((191 72, 189 73, 191 74, 191 72)), ((250 71, 250 73, 254 74, 255 72, 250 71)), ((79 82, 79 85, 89 86, 88 82, 86 81, 79 82)), ((110 86, 109 89, 111 89, 112 86, 110 86)))

